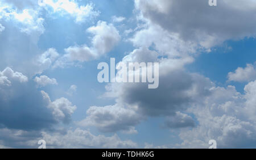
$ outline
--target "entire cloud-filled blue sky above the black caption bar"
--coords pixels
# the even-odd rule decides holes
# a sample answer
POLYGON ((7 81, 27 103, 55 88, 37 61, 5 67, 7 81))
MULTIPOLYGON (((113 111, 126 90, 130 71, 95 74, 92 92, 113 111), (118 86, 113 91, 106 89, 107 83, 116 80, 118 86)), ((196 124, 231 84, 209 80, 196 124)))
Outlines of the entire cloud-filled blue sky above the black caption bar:
POLYGON ((256 148, 255 35, 255 0, 3 0, 0 148, 256 148))

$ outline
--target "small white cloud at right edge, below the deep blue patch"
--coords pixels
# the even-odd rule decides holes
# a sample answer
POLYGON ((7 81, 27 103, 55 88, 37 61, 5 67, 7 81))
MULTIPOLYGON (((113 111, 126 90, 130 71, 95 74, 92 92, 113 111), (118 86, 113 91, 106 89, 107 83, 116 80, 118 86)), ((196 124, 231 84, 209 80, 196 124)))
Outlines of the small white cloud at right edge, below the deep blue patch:
POLYGON ((246 68, 237 68, 236 71, 228 74, 228 81, 250 82, 256 79, 256 69, 254 65, 247 64, 246 68))

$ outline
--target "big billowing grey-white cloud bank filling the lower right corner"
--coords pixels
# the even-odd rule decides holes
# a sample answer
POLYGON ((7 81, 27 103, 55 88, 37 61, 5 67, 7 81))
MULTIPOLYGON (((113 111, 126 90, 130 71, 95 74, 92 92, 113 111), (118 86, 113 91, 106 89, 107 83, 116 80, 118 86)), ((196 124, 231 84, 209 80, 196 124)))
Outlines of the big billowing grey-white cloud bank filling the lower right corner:
POLYGON ((244 95, 234 86, 210 89, 211 94, 191 108, 199 125, 180 133, 184 140, 181 146, 205 148, 213 139, 218 148, 255 147, 255 84, 256 81, 248 83, 244 95))

